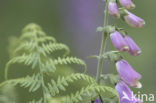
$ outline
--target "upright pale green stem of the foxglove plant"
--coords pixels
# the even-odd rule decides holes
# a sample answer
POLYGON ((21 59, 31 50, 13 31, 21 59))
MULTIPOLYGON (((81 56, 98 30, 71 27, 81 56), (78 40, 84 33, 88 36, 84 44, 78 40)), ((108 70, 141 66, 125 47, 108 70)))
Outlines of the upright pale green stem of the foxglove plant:
MULTIPOLYGON (((104 27, 106 27, 108 25, 108 20, 109 20, 108 1, 105 0, 105 3, 106 3, 106 5, 105 5, 104 27)), ((104 29, 104 31, 102 32, 102 43, 101 43, 101 49, 100 49, 100 54, 99 54, 99 58, 98 58, 97 75, 96 75, 97 83, 100 83, 100 76, 102 73, 103 61, 104 61, 104 58, 102 56, 105 53, 106 40, 107 40, 107 33, 104 29)))

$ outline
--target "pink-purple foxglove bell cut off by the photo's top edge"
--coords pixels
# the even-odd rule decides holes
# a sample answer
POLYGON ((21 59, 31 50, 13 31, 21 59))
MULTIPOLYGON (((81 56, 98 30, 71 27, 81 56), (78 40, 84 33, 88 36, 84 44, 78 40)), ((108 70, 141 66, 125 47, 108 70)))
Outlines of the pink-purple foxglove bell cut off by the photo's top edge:
POLYGON ((126 9, 134 9, 135 4, 131 0, 119 0, 120 4, 126 9))

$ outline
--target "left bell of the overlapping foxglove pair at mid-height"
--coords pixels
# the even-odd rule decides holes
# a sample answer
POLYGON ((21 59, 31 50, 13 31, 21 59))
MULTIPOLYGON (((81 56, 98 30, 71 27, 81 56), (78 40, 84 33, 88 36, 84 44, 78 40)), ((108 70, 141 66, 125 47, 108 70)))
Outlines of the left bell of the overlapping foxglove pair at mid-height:
POLYGON ((117 48, 119 51, 129 51, 128 44, 126 43, 125 39, 120 34, 120 32, 115 31, 111 33, 110 38, 114 47, 117 48))

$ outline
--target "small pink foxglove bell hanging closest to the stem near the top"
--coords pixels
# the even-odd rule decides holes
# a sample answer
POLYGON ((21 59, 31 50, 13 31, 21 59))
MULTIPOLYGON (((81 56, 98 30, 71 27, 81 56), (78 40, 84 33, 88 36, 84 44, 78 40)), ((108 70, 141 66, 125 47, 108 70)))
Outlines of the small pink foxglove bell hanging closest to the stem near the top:
POLYGON ((116 2, 109 2, 108 8, 110 15, 114 16, 115 18, 120 18, 120 11, 116 2))

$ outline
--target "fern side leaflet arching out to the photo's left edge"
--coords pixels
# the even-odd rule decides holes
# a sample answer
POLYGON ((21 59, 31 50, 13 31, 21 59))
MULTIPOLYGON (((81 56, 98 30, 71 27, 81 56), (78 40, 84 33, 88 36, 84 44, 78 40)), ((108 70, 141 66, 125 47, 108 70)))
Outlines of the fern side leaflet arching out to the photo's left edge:
POLYGON ((19 84, 21 87, 29 88, 29 92, 35 92, 41 86, 40 74, 34 74, 32 77, 27 76, 25 78, 10 79, 10 80, 3 82, 0 85, 0 87, 6 84, 10 84, 13 86, 16 86, 19 84))

